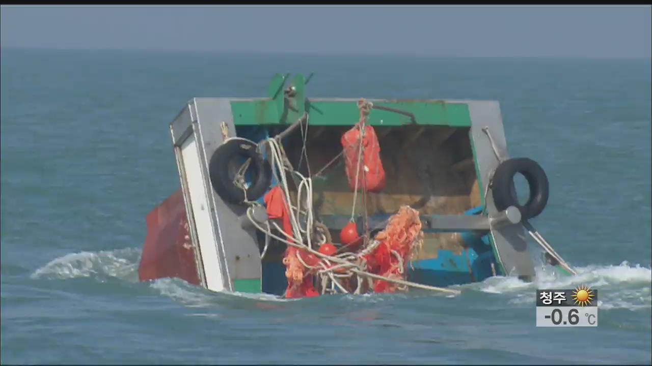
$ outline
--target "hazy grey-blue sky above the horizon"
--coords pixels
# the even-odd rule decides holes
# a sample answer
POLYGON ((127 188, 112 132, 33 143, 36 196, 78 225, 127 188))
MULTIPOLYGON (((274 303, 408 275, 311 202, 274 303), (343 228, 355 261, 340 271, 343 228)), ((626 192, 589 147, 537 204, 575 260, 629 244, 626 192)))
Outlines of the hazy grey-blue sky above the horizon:
POLYGON ((2 7, 2 48, 650 58, 645 7, 2 7))

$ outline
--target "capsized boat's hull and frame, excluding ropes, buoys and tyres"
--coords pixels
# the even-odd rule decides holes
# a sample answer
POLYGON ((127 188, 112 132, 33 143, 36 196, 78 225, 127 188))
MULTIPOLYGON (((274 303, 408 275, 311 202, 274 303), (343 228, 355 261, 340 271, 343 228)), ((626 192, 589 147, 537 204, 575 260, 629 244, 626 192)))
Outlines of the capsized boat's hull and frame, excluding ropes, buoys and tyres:
MULTIPOLYGON (((148 215, 141 280, 180 277, 209 290, 282 294, 284 244, 271 240, 274 245, 263 256, 265 236, 246 225, 246 205, 233 204, 213 186, 224 175, 235 182, 231 173, 243 164, 217 174, 209 169, 227 141, 258 143, 272 136, 293 169, 313 176, 312 210, 333 242, 352 207, 357 216, 389 218, 408 205, 424 223, 423 245, 406 268, 411 281, 441 287, 491 275, 533 279, 520 217, 505 219, 490 189, 496 167, 509 158, 497 102, 368 100, 374 111, 366 123, 378 134, 387 182, 381 192, 356 195, 338 156, 340 137, 359 115, 359 100, 308 100, 303 76, 280 92, 285 82, 286 77, 275 76, 267 98, 192 98, 171 122, 181 190, 148 215), (310 127, 304 130, 302 120, 310 127)), ((266 153, 261 150, 263 158, 266 153)), ((246 175, 241 178, 258 186, 246 175)), ((269 188, 276 184, 272 179, 269 188)), ((297 188, 287 189, 290 201, 296 201, 297 188)), ((261 195, 254 195, 252 201, 263 204, 261 195)))

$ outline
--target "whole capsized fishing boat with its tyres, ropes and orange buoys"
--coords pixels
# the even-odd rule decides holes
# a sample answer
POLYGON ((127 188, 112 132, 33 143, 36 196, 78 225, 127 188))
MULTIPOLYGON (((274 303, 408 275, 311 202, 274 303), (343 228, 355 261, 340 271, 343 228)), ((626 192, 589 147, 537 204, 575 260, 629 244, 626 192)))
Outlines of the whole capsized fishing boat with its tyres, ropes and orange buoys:
POLYGON ((141 281, 288 298, 457 292, 532 281, 526 232, 574 274, 529 223, 548 178, 509 158, 497 102, 308 99, 304 76, 288 81, 276 74, 267 98, 192 98, 171 122, 181 188, 147 215, 141 281))

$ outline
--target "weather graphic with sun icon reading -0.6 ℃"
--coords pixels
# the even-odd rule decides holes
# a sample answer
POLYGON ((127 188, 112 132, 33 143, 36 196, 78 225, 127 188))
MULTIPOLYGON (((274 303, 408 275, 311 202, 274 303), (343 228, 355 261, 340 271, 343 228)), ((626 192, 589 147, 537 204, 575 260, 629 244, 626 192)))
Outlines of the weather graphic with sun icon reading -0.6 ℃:
POLYGON ((595 326, 598 326, 598 290, 587 285, 537 290, 537 327, 595 326))

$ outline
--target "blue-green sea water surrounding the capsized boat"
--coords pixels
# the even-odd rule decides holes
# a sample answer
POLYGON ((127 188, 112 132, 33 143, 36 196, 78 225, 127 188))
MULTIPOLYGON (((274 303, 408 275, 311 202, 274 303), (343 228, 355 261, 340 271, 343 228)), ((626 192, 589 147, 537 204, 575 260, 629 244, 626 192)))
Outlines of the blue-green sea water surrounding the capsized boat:
MULTIPOLYGON (((3 364, 638 363, 651 359, 649 60, 1 50, 3 364), (571 266, 441 296, 216 294, 138 282, 145 215, 179 187, 168 124, 194 96, 498 100, 539 162, 533 224, 571 266), (599 290, 597 328, 536 328, 535 290, 599 290)), ((532 247, 534 247, 534 244, 532 247)))

